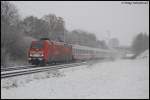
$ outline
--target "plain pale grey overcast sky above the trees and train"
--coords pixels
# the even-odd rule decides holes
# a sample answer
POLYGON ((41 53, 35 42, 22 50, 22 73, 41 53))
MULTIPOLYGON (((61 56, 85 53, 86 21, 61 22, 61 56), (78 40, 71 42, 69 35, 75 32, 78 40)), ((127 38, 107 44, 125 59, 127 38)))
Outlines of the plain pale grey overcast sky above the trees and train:
MULTIPOLYGON (((22 18, 46 14, 63 17, 67 30, 82 29, 98 39, 116 37, 130 45, 139 32, 149 34, 149 2, 125 4, 125 1, 11 1, 22 18)), ((134 1, 135 2, 135 1, 134 1)))

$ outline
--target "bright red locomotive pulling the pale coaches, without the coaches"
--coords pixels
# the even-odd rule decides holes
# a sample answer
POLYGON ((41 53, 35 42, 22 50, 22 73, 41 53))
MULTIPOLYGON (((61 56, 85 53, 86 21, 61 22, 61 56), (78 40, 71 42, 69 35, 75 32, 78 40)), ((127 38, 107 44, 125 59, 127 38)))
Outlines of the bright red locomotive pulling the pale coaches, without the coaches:
POLYGON ((71 45, 47 39, 32 41, 28 51, 28 61, 34 65, 69 62, 72 59, 71 45))

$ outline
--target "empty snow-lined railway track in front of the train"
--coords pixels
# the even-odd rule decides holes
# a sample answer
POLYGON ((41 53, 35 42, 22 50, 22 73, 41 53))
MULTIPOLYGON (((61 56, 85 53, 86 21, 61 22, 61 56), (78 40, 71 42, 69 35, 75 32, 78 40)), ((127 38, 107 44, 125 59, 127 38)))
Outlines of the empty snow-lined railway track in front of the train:
POLYGON ((2 78, 25 75, 25 74, 44 72, 44 71, 49 71, 49 70, 54 70, 54 69, 76 67, 76 66, 85 65, 85 64, 88 64, 88 62, 63 64, 63 65, 53 65, 53 66, 44 66, 44 67, 34 67, 33 65, 23 66, 23 67, 20 67, 20 68, 19 67, 16 67, 16 68, 11 67, 11 68, 7 68, 7 69, 3 69, 3 71, 1 72, 1 79, 2 78))

